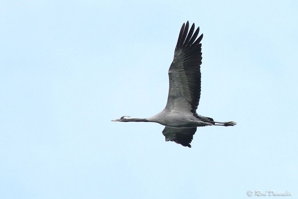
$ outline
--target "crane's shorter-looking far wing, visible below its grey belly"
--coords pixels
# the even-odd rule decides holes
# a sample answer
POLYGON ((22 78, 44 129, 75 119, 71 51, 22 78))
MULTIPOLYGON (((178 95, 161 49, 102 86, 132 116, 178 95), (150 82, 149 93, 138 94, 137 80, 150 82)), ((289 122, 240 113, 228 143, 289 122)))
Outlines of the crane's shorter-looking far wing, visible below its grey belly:
POLYGON ((162 134, 166 137, 166 141, 174 141, 182 146, 191 147, 190 143, 193 140, 193 135, 197 127, 194 128, 171 128, 165 127, 162 134))

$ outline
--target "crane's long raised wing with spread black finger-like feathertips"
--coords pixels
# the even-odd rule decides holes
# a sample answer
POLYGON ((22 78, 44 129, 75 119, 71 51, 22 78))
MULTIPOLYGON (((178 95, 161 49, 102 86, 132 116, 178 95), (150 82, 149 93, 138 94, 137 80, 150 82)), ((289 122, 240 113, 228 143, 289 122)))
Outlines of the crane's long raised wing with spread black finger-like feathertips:
POLYGON ((195 24, 188 32, 189 23, 187 21, 181 27, 177 41, 174 60, 169 69, 169 95, 166 109, 171 112, 196 112, 201 94, 201 71, 202 60, 200 41, 203 34, 195 41, 200 27, 195 33, 195 24))

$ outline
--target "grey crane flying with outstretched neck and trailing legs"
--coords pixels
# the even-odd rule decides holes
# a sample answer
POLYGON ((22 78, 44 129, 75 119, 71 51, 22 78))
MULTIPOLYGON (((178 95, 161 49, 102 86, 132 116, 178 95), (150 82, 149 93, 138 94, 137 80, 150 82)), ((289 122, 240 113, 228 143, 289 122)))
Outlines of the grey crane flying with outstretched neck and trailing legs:
POLYGON ((174 141, 182 146, 191 147, 197 127, 234 126, 235 122, 216 122, 212 118, 198 115, 196 109, 201 95, 202 53, 200 43, 203 34, 198 36, 200 27, 183 23, 174 53, 174 60, 168 71, 169 95, 166 107, 150 118, 132 118, 123 116, 112 121, 120 122, 156 122, 164 125, 162 134, 166 141, 174 141), (195 30, 195 32, 194 32, 195 30), (197 38, 197 39, 196 39, 197 38))

